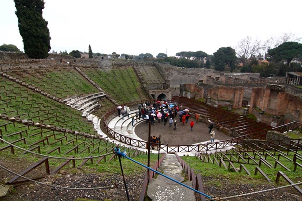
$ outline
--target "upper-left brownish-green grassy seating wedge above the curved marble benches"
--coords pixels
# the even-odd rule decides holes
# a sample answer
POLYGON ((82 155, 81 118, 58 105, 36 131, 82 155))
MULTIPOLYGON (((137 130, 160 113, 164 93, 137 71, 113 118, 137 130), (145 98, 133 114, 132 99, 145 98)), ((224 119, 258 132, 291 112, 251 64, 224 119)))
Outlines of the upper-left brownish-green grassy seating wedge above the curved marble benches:
POLYGON ((98 92, 98 89, 73 68, 12 71, 8 75, 58 98, 98 92))

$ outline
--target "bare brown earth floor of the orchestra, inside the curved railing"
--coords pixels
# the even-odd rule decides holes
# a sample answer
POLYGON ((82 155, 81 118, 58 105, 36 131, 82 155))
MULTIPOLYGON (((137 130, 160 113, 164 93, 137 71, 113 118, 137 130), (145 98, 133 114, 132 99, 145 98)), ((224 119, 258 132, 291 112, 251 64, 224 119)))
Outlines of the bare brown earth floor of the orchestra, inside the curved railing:
MULTIPOLYGON (((172 127, 169 128, 169 123, 164 127, 163 122, 156 122, 151 125, 151 136, 159 137, 159 135, 161 135, 161 143, 169 145, 191 145, 199 142, 210 141, 209 129, 206 123, 195 123, 193 131, 191 131, 190 122, 191 120, 189 119, 188 123, 182 125, 178 119, 176 130, 174 130, 173 123, 172 127)), ((213 130, 215 131, 215 140, 226 140, 232 138, 231 136, 218 131, 216 128, 213 130)), ((135 127, 135 134, 143 140, 148 140, 148 125, 146 124, 146 121, 139 123, 135 127)))

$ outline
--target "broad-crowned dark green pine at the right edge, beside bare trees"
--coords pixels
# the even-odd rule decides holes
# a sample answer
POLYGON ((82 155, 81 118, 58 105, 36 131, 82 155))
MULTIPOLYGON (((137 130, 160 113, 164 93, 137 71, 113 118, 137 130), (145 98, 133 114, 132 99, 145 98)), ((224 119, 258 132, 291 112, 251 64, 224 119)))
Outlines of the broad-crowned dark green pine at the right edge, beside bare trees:
POLYGON ((266 55, 268 61, 286 62, 290 65, 294 58, 302 59, 302 44, 297 42, 285 42, 276 48, 269 49, 266 55))

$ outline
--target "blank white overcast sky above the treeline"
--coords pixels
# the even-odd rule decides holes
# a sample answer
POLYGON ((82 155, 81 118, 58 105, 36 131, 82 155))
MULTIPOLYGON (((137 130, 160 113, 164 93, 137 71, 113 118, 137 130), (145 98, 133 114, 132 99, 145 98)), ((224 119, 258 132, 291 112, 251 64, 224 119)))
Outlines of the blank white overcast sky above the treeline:
MULTIPOLYGON (((44 0, 52 50, 94 53, 165 53, 236 47, 246 36, 302 37, 302 1, 44 0)), ((23 50, 13 0, 0 0, 0 45, 23 50)))

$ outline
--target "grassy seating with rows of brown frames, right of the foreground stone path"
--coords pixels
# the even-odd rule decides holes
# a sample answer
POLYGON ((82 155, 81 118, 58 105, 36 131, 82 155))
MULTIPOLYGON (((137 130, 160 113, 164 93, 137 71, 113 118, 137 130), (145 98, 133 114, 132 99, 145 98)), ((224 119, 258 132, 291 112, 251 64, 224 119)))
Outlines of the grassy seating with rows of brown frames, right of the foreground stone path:
MULTIPOLYGON (((275 140, 259 141, 242 144, 239 148, 216 152, 210 155, 196 154, 201 162, 212 163, 233 172, 244 172, 254 175, 260 173, 267 181, 284 177, 289 183, 293 183, 291 177, 297 176, 295 171, 302 168, 302 141, 300 140, 275 140), (283 173, 285 172, 286 175, 283 173)), ((214 167, 214 166, 213 166, 214 167)), ((299 187, 295 187, 302 193, 299 187)))

